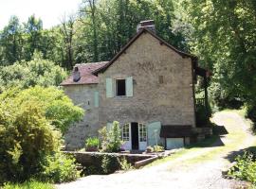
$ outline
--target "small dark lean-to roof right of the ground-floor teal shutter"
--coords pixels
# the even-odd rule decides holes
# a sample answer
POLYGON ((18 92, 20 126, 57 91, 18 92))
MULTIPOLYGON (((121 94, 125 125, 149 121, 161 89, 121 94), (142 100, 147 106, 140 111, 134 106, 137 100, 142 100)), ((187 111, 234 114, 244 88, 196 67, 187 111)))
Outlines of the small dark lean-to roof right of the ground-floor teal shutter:
POLYGON ((177 138, 190 136, 192 136, 192 126, 190 125, 161 126, 160 137, 177 138))

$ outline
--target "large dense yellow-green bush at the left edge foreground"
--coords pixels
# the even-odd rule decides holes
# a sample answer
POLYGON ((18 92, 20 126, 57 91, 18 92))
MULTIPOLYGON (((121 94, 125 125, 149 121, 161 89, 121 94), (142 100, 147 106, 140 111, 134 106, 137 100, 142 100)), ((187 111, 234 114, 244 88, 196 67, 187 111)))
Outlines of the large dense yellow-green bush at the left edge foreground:
POLYGON ((35 101, 18 105, 13 99, 1 100, 0 183, 40 172, 42 158, 59 148, 60 137, 35 101))

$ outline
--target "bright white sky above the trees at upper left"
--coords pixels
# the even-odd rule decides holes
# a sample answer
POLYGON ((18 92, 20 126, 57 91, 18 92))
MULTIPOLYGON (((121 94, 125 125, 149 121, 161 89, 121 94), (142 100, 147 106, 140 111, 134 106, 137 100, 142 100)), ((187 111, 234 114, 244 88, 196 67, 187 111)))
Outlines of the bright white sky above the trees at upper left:
POLYGON ((60 24, 64 14, 77 12, 82 0, 0 0, 0 30, 9 22, 11 15, 18 16, 21 23, 35 14, 43 20, 44 28, 60 24))

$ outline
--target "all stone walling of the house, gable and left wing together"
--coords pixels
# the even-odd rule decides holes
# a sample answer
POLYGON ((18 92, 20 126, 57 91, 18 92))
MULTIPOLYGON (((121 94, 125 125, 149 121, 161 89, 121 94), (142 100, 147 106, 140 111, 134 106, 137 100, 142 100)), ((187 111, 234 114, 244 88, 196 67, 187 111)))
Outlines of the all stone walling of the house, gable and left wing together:
MULTIPOLYGON (((192 57, 182 56, 152 33, 143 32, 107 69, 98 73, 98 83, 64 85, 65 93, 85 110, 82 122, 65 135, 67 149, 84 146, 86 137, 97 136, 101 127, 113 121, 119 121, 120 126, 160 123, 195 128, 192 66, 192 57), (127 77, 132 77, 133 94, 115 95, 116 79, 127 77), (106 92, 107 79, 112 82, 111 97, 106 92), (94 105, 95 92, 99 92, 99 107, 94 105)), ((131 135, 130 131, 130 139, 131 135)), ((149 137, 147 141, 155 140, 149 137)), ((185 142, 189 144, 190 138, 185 138, 185 142)))

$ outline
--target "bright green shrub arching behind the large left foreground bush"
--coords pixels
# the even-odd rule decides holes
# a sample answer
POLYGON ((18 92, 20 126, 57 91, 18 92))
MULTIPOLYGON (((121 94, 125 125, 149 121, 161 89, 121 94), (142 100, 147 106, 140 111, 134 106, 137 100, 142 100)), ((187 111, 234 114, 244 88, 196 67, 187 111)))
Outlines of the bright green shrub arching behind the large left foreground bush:
POLYGON ((50 121, 51 125, 61 129, 63 133, 72 123, 82 119, 82 108, 74 106, 71 99, 56 87, 44 88, 36 86, 21 92, 10 89, 2 94, 2 96, 13 98, 13 103, 15 102, 16 106, 33 100, 44 112, 46 119, 50 121))

